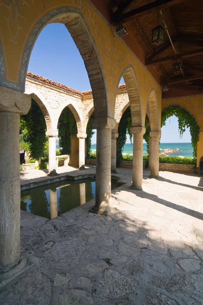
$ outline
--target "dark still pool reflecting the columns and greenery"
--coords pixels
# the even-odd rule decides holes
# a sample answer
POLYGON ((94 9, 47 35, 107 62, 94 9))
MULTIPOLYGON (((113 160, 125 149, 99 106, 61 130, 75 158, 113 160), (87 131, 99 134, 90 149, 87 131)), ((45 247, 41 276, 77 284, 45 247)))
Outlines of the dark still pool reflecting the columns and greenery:
MULTIPOLYGON (((121 184, 112 179, 112 190, 121 184)), ((95 181, 64 180, 21 191, 20 208, 32 214, 53 219, 95 198, 95 181)))

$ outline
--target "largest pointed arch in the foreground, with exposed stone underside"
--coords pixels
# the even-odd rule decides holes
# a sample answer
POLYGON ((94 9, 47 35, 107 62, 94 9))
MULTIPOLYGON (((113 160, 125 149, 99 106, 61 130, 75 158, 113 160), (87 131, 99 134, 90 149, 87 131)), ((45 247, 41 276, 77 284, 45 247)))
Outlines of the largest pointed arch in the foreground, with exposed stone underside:
POLYGON ((48 23, 54 22, 60 22, 65 25, 84 60, 92 88, 95 116, 107 117, 110 114, 110 105, 103 63, 85 17, 82 14, 82 11, 76 7, 58 7, 57 10, 52 10, 42 16, 42 18, 33 26, 32 32, 24 47, 24 54, 20 67, 21 76, 17 87, 20 88, 20 91, 24 92, 26 72, 33 45, 42 29, 48 23))

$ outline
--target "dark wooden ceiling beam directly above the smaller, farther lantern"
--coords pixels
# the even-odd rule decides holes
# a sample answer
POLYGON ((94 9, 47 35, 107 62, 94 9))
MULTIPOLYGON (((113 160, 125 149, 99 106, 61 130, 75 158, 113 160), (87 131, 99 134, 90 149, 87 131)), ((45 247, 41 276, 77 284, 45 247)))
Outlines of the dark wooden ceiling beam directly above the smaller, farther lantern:
POLYGON ((168 60, 177 60, 181 57, 188 58, 188 57, 202 55, 202 54, 203 54, 203 48, 197 49, 194 51, 185 52, 185 53, 179 53, 176 55, 170 55, 170 56, 166 56, 166 57, 162 57, 162 58, 158 58, 158 59, 146 58, 145 66, 151 66, 151 65, 158 64, 158 63, 167 62, 168 60))

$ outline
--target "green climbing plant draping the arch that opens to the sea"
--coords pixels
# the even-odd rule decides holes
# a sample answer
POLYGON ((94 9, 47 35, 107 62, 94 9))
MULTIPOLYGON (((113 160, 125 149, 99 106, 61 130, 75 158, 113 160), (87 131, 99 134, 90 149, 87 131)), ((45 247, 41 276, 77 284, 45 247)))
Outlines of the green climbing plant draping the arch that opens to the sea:
POLYGON ((161 127, 165 126, 166 119, 175 115, 178 118, 178 129, 180 137, 187 128, 190 130, 191 142, 193 147, 193 157, 197 156, 197 141, 199 139, 199 126, 195 118, 185 109, 178 106, 171 106, 162 111, 161 114, 161 127))

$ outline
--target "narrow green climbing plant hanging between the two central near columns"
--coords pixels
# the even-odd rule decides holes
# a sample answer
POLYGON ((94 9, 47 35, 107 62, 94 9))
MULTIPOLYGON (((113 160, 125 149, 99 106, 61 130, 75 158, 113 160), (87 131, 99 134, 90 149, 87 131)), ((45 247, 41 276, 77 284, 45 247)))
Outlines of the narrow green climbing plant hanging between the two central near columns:
POLYGON ((130 127, 132 126, 131 121, 131 111, 130 107, 128 107, 123 113, 120 123, 118 125, 118 138, 117 138, 117 146, 116 146, 116 163, 117 166, 120 166, 120 161, 122 160, 122 151, 125 145, 127 134, 130 136, 130 141, 132 141, 132 134, 130 134, 130 127))

